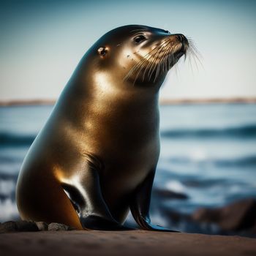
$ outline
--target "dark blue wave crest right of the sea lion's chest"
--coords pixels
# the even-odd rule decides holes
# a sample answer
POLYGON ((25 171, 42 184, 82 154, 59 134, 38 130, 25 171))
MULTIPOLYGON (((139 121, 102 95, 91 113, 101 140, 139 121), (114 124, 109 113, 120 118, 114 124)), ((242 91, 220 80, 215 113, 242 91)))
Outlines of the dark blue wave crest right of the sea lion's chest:
POLYGON ((222 129, 170 129, 161 132, 164 138, 208 138, 208 137, 256 137, 256 124, 247 124, 241 127, 225 127, 222 129))

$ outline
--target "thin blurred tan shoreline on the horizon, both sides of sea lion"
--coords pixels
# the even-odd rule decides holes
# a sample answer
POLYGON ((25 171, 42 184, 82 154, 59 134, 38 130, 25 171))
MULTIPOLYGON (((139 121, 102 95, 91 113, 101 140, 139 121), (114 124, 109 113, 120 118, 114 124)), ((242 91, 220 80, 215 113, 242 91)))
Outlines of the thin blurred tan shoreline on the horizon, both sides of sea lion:
MULTIPOLYGON (((0 101, 0 107, 54 105, 56 99, 13 99, 0 101)), ((256 104, 256 97, 243 98, 206 98, 206 99, 159 99, 160 105, 194 105, 194 104, 256 104)))

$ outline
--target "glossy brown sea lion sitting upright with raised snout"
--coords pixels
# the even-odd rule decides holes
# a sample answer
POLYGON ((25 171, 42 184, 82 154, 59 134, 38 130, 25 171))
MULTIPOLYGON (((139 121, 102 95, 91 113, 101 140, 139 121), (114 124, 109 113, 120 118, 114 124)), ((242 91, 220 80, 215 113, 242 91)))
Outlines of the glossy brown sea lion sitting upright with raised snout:
POLYGON ((18 176, 25 220, 118 230, 129 209, 146 230, 159 158, 159 88, 186 53, 183 34, 121 26, 83 56, 18 176))

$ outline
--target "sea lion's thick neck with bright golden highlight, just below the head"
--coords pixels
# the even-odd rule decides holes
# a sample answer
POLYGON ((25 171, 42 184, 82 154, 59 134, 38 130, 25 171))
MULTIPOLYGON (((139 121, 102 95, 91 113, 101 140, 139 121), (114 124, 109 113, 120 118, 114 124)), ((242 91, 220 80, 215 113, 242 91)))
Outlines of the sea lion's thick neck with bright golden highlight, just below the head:
POLYGON ((151 87, 137 87, 123 80, 118 83, 118 80, 102 74, 69 80, 55 110, 60 115, 63 112, 63 116, 83 122, 83 118, 91 113, 105 113, 106 116, 116 112, 143 115, 150 111, 153 114, 158 112, 158 105, 159 92, 151 87))

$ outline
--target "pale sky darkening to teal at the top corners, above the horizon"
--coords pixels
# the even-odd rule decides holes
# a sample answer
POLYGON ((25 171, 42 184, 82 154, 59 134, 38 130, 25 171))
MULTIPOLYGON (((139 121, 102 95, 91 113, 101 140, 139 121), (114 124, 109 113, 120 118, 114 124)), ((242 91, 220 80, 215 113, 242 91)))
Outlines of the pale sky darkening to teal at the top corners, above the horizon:
POLYGON ((162 99, 256 97, 256 1, 0 0, 0 100, 56 99, 86 50, 141 24, 194 40, 203 65, 179 61, 162 99))

